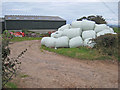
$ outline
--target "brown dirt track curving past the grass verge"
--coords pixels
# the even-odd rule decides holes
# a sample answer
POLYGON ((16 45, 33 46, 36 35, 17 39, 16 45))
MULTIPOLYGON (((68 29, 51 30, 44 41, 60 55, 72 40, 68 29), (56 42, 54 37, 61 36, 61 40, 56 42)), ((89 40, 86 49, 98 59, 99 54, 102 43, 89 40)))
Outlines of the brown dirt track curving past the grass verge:
POLYGON ((40 41, 23 41, 10 45, 11 54, 19 55, 21 71, 28 77, 19 79, 20 88, 117 88, 118 65, 109 61, 73 59, 40 50, 40 41))

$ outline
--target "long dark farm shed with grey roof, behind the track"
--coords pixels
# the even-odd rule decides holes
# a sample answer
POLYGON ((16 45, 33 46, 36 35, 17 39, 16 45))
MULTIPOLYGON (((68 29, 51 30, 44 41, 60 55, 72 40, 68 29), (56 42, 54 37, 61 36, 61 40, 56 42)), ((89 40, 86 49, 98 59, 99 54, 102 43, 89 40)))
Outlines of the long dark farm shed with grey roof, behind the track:
POLYGON ((58 16, 5 15, 6 30, 58 29, 66 20, 58 16))

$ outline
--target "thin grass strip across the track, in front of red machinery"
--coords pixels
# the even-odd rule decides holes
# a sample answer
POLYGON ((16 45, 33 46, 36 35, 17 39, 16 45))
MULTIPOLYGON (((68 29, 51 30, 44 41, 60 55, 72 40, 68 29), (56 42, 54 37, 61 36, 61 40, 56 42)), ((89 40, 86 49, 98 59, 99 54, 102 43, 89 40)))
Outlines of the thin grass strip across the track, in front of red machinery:
POLYGON ((27 40, 41 40, 41 37, 14 37, 11 42, 27 41, 27 40))

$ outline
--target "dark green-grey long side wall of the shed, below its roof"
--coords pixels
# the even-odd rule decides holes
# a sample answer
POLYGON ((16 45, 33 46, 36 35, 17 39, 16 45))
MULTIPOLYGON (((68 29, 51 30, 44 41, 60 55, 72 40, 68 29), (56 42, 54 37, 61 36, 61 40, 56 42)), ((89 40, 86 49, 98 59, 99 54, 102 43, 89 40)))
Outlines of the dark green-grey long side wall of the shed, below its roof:
POLYGON ((66 24, 66 21, 5 20, 7 30, 58 29, 64 24, 66 24))

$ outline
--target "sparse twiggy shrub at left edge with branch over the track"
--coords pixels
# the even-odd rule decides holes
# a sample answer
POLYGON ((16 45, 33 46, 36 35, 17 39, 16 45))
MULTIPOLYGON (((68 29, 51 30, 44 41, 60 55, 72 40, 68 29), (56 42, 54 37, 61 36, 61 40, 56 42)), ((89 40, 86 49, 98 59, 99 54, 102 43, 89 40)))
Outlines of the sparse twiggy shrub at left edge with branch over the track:
POLYGON ((4 87, 9 82, 13 75, 16 74, 21 62, 18 59, 27 51, 24 50, 16 58, 10 58, 10 49, 8 47, 11 35, 8 31, 4 31, 2 35, 2 86, 4 87))

